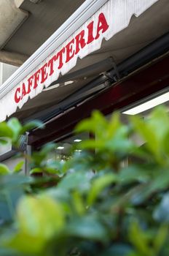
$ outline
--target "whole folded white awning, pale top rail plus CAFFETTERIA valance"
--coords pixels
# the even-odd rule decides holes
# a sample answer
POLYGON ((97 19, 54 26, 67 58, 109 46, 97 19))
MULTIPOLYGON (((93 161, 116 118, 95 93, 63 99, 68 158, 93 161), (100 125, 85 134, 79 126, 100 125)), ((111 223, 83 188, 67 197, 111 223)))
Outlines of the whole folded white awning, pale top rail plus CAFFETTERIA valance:
MULTIPOLYGON (((91 56, 91 53, 101 49, 104 42, 127 28, 133 15, 138 18, 157 1, 160 0, 85 1, 74 15, 68 18, 66 23, 63 23, 63 26, 1 86, 0 121, 15 113, 17 108, 23 108, 29 99, 33 99, 42 91, 43 97, 40 99, 42 104, 43 99, 47 97, 49 97, 48 101, 52 100, 55 96, 49 95, 45 88, 60 79, 60 76, 70 72, 76 63, 79 63, 79 59, 91 56), (103 39, 105 41, 102 44, 103 39)), ((111 45, 108 45, 108 49, 111 51, 111 45)), ((85 60, 87 61, 87 57, 85 60)), ((90 64, 92 63, 88 61, 88 65, 90 64)), ((66 90, 68 84, 71 84, 71 81, 64 83, 62 92, 66 96, 71 94, 70 87, 66 90)), ((79 81, 72 91, 83 84, 84 80, 79 81)), ((56 82, 55 94, 59 88, 60 83, 56 82)), ((36 105, 36 101, 34 104, 36 105)))

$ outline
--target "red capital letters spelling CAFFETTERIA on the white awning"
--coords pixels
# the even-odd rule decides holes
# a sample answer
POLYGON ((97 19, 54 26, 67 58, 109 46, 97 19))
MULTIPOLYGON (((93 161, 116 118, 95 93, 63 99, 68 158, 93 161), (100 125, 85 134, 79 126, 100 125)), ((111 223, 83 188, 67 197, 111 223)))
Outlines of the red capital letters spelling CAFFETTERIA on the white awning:
POLYGON ((98 15, 97 22, 91 21, 87 25, 86 29, 82 29, 82 31, 76 34, 76 36, 71 39, 67 45, 60 48, 58 53, 52 56, 50 61, 47 61, 42 68, 38 69, 34 75, 31 75, 31 77, 27 79, 26 83, 23 83, 21 87, 16 89, 15 102, 19 103, 26 94, 30 94, 33 89, 36 89, 37 86, 44 83, 47 78, 56 71, 56 69, 61 69, 63 65, 73 59, 80 50, 82 50, 86 45, 92 43, 95 39, 98 39, 108 28, 109 25, 106 18, 103 15, 103 12, 101 12, 100 15, 98 15), (96 35, 94 35, 94 26, 97 28, 96 35))

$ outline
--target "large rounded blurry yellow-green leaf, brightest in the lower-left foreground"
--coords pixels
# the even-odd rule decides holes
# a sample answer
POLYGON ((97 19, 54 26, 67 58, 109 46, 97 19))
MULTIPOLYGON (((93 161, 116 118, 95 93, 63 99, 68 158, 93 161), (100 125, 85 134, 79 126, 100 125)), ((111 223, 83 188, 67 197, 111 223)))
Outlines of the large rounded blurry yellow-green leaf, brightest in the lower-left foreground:
POLYGON ((60 203, 44 195, 23 197, 17 207, 17 222, 23 233, 48 239, 64 226, 63 208, 60 203))

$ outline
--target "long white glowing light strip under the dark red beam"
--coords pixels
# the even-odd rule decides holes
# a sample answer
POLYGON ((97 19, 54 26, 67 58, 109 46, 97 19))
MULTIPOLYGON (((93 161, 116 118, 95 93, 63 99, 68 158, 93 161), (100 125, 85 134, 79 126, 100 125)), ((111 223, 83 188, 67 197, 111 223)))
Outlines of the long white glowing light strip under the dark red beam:
POLYGON ((150 108, 154 108, 155 106, 160 105, 164 102, 168 102, 168 100, 169 100, 169 92, 166 92, 165 94, 155 97, 154 99, 150 99, 149 101, 144 102, 134 108, 130 108, 129 110, 126 110, 125 112, 123 112, 123 114, 136 115, 138 113, 149 110, 150 108))

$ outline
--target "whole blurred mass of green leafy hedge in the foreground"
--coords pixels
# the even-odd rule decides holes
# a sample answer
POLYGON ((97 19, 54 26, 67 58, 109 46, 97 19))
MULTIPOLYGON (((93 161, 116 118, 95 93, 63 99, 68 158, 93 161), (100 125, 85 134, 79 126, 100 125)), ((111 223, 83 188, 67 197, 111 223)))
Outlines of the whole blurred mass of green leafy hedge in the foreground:
MULTIPOLYGON (((1 123, 0 143, 10 138, 17 146, 37 125, 1 123)), ((77 144, 81 154, 72 151, 65 163, 47 161, 53 143, 33 152, 31 174, 43 177, 19 174, 23 162, 10 171, 0 165, 0 255, 168 256, 167 111, 132 116, 128 125, 118 113, 108 121, 95 111, 76 132, 93 139, 77 144)))

